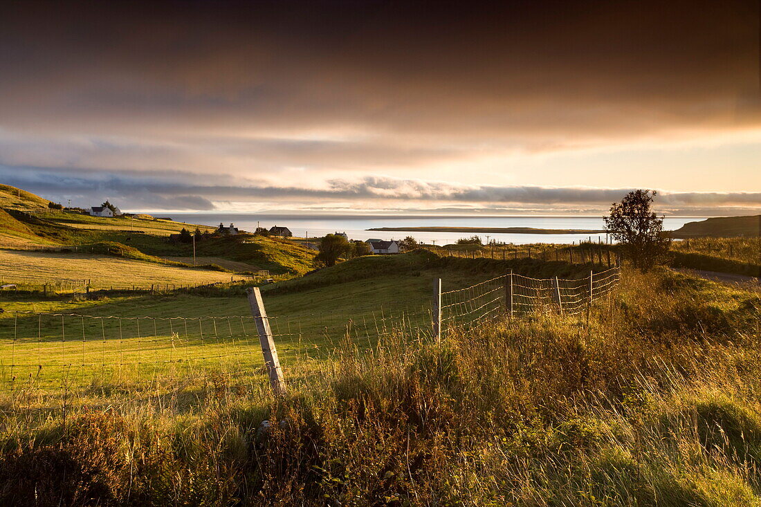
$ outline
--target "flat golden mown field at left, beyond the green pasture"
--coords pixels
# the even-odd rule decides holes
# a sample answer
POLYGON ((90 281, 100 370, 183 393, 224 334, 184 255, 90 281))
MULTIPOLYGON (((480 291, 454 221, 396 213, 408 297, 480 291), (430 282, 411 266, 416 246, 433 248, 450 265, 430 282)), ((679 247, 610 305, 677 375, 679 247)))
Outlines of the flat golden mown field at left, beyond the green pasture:
POLYGON ((90 279, 94 288, 127 285, 202 285, 229 282, 230 273, 211 269, 189 269, 107 255, 83 253, 0 250, 0 277, 5 282, 51 279, 90 279))

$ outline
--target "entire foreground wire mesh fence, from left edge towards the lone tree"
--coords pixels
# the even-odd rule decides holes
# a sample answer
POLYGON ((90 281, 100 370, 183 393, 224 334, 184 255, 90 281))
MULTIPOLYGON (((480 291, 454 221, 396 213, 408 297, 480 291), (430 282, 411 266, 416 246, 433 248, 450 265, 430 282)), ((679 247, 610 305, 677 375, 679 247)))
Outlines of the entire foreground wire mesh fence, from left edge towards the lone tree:
MULTIPOLYGON (((579 314, 609 294, 620 269, 580 279, 533 279, 516 273, 441 292, 442 333, 528 312, 579 314)), ((384 301, 339 312, 272 314, 279 355, 295 365, 338 348, 371 349, 380 340, 436 336, 430 300, 384 301)), ((435 305, 435 303, 434 303, 435 305)), ((186 388, 224 375, 233 384, 266 384, 260 336, 252 315, 123 317, 6 311, 0 317, 0 392, 37 392, 51 400, 106 397, 114 391, 186 388)), ((18 396, 17 396, 18 398, 18 396)), ((84 403, 84 401, 82 401, 84 403)), ((8 408, 0 397, 0 410, 8 408)))

